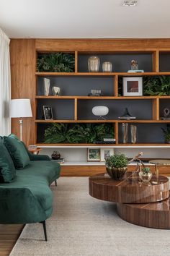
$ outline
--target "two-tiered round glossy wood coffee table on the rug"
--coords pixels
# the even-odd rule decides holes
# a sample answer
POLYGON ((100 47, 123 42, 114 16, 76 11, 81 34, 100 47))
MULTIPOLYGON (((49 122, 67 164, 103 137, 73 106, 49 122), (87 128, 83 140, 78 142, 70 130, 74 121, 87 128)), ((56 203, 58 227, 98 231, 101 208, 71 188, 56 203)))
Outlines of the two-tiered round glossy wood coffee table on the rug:
POLYGON ((153 176, 147 184, 128 172, 115 181, 108 174, 89 177, 89 195, 117 202, 117 213, 125 221, 155 229, 170 229, 169 179, 153 176))

